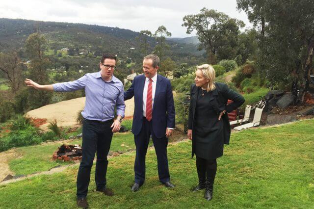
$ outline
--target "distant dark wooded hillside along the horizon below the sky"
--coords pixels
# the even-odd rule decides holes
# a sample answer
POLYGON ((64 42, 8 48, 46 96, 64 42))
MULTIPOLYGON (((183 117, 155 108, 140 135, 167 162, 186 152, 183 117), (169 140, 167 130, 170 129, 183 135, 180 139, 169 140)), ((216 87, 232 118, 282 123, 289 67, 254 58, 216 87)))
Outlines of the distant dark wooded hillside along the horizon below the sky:
MULTIPOLYGON (((129 29, 0 18, 0 52, 22 49, 28 35, 37 31, 45 35, 48 40, 48 48, 51 50, 75 48, 88 52, 101 47, 103 51, 127 56, 130 53, 130 48, 139 48, 138 42, 135 40, 139 32, 129 29)), ((148 40, 150 46, 154 47, 156 44, 154 38, 148 37, 148 40)), ((169 44, 174 53, 197 52, 197 47, 194 44, 189 45, 188 42, 176 43, 171 41, 169 44)))

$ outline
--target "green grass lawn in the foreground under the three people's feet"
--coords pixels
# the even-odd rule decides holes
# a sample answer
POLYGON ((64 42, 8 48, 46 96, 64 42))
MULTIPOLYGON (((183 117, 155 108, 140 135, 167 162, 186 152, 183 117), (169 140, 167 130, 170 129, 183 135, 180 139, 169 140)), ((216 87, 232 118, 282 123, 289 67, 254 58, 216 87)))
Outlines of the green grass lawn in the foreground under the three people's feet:
MULTIPOLYGON (((134 153, 109 160, 107 186, 115 196, 93 192, 93 166, 88 201, 91 208, 314 208, 314 120, 281 127, 233 132, 218 159, 213 199, 197 184, 191 142, 168 148, 174 189, 158 182, 155 151, 146 157, 146 182, 131 192, 134 153)), ((78 166, 0 186, 0 208, 76 208, 78 166)))

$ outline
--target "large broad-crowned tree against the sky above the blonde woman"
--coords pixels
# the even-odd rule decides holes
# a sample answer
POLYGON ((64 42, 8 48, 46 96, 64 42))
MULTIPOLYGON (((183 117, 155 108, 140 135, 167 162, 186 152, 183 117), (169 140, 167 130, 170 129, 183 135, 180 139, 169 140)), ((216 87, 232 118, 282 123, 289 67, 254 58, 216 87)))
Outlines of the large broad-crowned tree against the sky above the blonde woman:
POLYGON ((199 50, 206 50, 209 63, 215 64, 217 58, 235 58, 239 28, 245 26, 243 21, 204 7, 199 14, 184 16, 183 22, 187 34, 197 31, 199 50))

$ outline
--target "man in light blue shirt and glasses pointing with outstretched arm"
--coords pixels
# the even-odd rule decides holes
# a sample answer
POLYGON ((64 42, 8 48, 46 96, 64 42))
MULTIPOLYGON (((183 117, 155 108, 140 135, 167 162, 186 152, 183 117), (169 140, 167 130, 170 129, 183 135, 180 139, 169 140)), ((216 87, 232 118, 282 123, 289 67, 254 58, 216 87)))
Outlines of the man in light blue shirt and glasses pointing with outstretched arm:
POLYGON ((114 55, 104 54, 100 63, 100 72, 88 73, 75 81, 40 85, 30 79, 25 80, 27 86, 38 90, 68 92, 85 89, 85 108, 81 113, 84 117, 83 153, 77 180, 77 203, 78 207, 82 208, 88 207, 86 196, 96 152, 96 190, 108 196, 114 195, 106 188, 107 154, 112 134, 120 130, 125 111, 123 83, 113 76, 115 64, 114 55), (115 107, 117 119, 113 120, 115 107))

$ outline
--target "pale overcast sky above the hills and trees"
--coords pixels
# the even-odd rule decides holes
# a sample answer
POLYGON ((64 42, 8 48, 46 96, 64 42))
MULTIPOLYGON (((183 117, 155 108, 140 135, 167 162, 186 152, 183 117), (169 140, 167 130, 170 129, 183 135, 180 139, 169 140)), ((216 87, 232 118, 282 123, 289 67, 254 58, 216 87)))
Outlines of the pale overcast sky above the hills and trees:
MULTIPOLYGON (((235 0, 1 0, 0 18, 117 26, 155 32, 164 25, 172 37, 186 34, 183 17, 206 7, 252 25, 235 0)), ((244 29, 241 29, 244 30, 244 29)))

